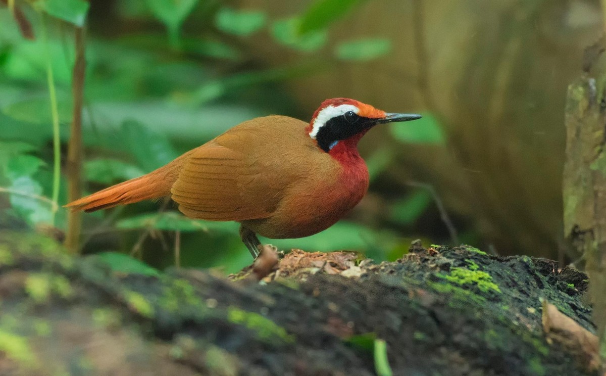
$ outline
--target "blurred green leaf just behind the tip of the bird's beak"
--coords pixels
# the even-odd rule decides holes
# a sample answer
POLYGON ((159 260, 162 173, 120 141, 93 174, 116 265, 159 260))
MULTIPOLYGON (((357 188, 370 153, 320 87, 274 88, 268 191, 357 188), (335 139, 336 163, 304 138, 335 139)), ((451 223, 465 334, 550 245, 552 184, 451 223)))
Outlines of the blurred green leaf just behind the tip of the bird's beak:
POLYGON ((422 113, 421 119, 390 124, 391 135, 402 143, 444 144, 442 125, 431 113, 422 113))

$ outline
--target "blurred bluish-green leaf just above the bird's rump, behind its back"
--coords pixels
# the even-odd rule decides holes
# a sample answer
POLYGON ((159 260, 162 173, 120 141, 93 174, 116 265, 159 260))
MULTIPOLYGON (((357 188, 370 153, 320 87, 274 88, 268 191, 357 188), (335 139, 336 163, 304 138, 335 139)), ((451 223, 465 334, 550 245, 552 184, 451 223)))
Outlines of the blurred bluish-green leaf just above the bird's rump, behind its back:
POLYGON ((145 172, 164 166, 179 156, 167 136, 153 132, 138 121, 125 121, 122 124, 122 135, 128 150, 145 172))

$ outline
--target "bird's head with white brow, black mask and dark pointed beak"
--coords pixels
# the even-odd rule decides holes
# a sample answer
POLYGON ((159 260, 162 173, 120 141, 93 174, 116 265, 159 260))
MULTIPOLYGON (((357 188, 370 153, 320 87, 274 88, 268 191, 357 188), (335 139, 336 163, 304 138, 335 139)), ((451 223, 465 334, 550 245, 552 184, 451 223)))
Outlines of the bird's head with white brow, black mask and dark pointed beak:
POLYGON ((376 124, 421 118, 415 113, 387 113, 349 98, 332 98, 322 102, 313 114, 307 132, 327 153, 356 147, 358 141, 376 124))

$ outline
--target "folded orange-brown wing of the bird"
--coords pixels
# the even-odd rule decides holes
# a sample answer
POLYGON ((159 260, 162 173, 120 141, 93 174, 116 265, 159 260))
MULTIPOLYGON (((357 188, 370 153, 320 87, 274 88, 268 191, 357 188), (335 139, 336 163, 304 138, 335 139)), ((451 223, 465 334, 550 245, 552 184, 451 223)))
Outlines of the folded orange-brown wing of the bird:
POLYGON ((193 150, 171 189, 179 210, 215 221, 269 217, 289 182, 268 166, 263 144, 257 132, 232 129, 193 150))

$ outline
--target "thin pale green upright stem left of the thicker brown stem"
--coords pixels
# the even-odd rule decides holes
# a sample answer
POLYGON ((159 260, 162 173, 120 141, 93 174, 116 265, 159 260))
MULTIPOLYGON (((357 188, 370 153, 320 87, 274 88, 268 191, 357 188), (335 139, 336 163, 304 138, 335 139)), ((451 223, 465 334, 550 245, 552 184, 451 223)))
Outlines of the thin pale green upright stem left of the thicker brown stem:
POLYGON ((50 113, 53 119, 53 195, 55 205, 51 217, 51 224, 55 225, 55 215, 59 207, 59 188, 61 187, 61 139, 59 139, 59 110, 57 108, 57 94, 55 91, 55 78, 48 49, 46 16, 42 14, 42 41, 46 55, 46 78, 48 84, 48 96, 50 99, 50 113))

